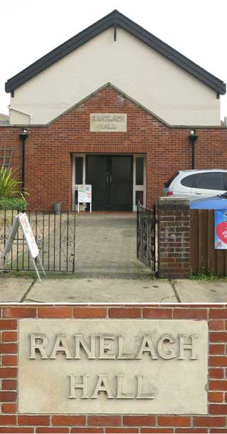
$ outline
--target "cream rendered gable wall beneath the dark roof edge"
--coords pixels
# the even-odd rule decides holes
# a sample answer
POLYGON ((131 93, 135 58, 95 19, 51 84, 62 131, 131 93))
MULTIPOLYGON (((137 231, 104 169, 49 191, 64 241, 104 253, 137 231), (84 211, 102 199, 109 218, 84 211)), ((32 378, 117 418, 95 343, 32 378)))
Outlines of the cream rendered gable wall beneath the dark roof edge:
POLYGON ((16 88, 11 125, 45 125, 107 82, 170 125, 220 125, 215 90, 122 28, 117 41, 109 28, 16 88))

